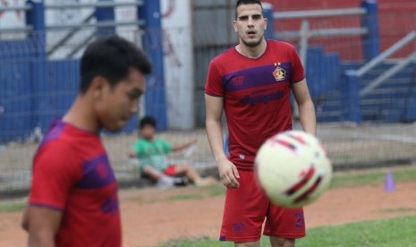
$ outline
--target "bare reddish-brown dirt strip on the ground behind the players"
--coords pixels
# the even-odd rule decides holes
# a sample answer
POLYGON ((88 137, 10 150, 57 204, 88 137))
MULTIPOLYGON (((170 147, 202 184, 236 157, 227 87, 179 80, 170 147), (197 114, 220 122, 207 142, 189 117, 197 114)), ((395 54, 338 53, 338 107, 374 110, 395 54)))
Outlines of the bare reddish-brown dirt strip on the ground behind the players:
MULTIPOLYGON (((330 190, 305 210, 307 226, 416 215, 416 182, 395 185, 390 193, 383 184, 330 190)), ((155 246, 182 237, 216 239, 224 205, 224 196, 213 195, 218 191, 195 187, 122 191, 124 246, 155 246)), ((0 213, 0 246, 25 245, 20 220, 21 212, 0 213)))

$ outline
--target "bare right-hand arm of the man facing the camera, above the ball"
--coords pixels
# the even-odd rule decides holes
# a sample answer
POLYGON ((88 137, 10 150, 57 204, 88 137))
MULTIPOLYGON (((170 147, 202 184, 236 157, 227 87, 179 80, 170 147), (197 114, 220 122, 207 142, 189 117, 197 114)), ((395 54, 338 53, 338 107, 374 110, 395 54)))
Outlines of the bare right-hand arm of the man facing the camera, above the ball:
POLYGON ((292 85, 293 96, 299 108, 299 118, 301 126, 305 132, 317 134, 317 120, 315 115, 315 107, 306 80, 303 79, 292 85))

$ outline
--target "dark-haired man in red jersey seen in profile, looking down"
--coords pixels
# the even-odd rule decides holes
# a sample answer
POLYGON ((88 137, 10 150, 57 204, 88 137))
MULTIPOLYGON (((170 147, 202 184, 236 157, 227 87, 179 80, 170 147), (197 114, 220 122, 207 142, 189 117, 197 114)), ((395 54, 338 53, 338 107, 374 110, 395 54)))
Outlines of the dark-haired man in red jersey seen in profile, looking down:
POLYGON ((121 130, 137 112, 151 65, 113 36, 91 43, 80 68, 78 97, 34 158, 22 222, 29 246, 122 246, 117 182, 99 132, 121 130))

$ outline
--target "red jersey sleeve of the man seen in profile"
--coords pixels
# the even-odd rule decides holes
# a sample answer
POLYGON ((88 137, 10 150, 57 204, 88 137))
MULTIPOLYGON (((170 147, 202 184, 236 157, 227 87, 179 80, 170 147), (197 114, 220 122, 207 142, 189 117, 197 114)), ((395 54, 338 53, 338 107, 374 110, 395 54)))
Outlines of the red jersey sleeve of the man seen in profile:
POLYGON ((72 187, 82 176, 72 148, 50 142, 39 149, 33 165, 30 206, 63 210, 72 187))

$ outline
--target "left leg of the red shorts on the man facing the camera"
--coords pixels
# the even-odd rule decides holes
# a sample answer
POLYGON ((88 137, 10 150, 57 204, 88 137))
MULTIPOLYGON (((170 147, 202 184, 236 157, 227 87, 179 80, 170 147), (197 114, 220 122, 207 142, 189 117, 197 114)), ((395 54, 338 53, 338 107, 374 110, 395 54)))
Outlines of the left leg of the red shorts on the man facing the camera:
POLYGON ((221 241, 256 242, 267 214, 268 200, 259 190, 253 171, 239 170, 240 187, 227 189, 221 241))

